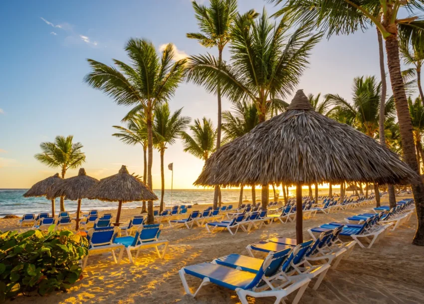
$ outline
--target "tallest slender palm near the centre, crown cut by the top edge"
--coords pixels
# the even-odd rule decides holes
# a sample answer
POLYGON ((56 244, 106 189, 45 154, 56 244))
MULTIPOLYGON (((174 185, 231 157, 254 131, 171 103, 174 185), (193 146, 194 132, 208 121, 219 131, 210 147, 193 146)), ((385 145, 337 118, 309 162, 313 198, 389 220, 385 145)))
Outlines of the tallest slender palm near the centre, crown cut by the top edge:
MULTIPOLYGON (((217 47, 218 61, 220 62, 222 51, 231 38, 231 26, 237 14, 237 0, 211 0, 209 7, 193 1, 192 5, 201 32, 187 33, 187 37, 198 40, 205 47, 217 47)), ((218 98, 216 149, 218 149, 221 145, 221 88, 219 84, 217 85, 216 95, 218 98)), ((215 186, 214 205, 218 202, 219 193, 219 187, 215 186)))

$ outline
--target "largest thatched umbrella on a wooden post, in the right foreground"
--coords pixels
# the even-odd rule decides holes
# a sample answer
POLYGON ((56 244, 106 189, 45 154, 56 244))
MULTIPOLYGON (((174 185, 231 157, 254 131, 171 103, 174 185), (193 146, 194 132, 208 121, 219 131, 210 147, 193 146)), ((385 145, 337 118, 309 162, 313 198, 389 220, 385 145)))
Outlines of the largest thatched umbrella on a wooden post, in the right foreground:
POLYGON ((302 185, 345 181, 396 184, 417 178, 397 154, 316 112, 298 90, 286 112, 213 153, 195 185, 261 184, 265 191, 272 183, 296 185, 296 232, 297 241, 302 242, 302 185))

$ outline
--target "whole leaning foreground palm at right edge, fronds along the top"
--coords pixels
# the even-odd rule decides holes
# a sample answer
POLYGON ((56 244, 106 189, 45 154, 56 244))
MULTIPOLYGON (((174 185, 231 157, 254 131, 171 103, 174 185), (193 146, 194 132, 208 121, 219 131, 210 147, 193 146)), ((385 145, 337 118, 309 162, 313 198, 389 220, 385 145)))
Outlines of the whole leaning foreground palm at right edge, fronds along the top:
MULTIPOLYGON (((282 2, 282 0, 269 1, 282 2)), ((417 172, 415 141, 401 73, 398 37, 424 49, 424 21, 419 19, 415 11, 423 8, 421 0, 288 0, 278 12, 300 22, 314 21, 316 27, 327 31, 329 35, 348 34, 358 29, 365 30, 370 24, 376 25, 386 41, 387 62, 398 113, 404 159, 417 172), (400 18, 400 8, 407 10, 410 16, 400 18)), ((413 244, 424 246, 424 185, 421 182, 412 188, 418 218, 413 244)))

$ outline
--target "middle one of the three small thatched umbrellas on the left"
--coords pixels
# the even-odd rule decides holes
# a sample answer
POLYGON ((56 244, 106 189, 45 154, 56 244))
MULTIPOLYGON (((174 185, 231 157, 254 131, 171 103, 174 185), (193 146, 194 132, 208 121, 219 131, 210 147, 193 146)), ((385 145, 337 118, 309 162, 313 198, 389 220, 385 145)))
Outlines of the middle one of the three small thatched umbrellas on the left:
POLYGON ((83 194, 98 181, 99 180, 93 177, 87 176, 84 168, 80 168, 77 176, 54 183, 47 189, 48 199, 55 199, 56 197, 63 196, 65 200, 78 201, 75 230, 79 228, 79 213, 81 211, 81 199, 83 198, 83 194))

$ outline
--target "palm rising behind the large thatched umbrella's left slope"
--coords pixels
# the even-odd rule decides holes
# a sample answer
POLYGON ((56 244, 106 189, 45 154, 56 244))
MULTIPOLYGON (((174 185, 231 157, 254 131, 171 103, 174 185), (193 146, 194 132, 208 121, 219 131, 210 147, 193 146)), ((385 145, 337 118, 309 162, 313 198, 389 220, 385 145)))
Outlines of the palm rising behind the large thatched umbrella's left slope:
MULTIPOLYGON (((222 129, 225 132, 225 143, 250 132, 259 123, 257 108, 252 102, 247 100, 234 102, 232 109, 232 112, 224 111, 222 113, 224 120, 222 129)), ((273 109, 271 109, 271 112, 273 112, 273 109)), ((244 185, 240 185, 238 206, 243 202, 243 188, 244 185)), ((255 186, 252 185, 252 202, 255 201, 255 195, 255 186)))

